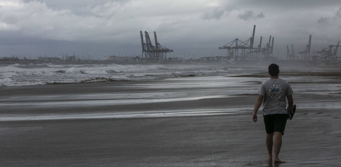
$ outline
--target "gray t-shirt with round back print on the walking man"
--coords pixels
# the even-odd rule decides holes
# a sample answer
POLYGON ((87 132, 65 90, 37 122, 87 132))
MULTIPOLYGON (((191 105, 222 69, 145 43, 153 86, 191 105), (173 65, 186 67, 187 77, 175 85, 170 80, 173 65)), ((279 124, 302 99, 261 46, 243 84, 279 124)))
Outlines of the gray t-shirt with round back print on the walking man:
POLYGON ((289 83, 284 79, 268 79, 261 84, 258 94, 264 96, 264 115, 277 113, 286 114, 285 97, 292 95, 293 90, 289 83))

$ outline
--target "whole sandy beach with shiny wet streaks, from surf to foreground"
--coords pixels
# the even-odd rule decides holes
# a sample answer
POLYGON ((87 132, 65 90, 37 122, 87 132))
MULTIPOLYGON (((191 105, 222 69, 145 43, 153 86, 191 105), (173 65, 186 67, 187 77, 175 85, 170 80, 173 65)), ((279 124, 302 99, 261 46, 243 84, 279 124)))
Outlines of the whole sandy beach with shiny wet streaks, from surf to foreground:
POLYGON ((1 87, 1 166, 340 166, 339 73, 315 74, 280 76, 297 105, 285 163, 252 122, 263 73, 1 87))

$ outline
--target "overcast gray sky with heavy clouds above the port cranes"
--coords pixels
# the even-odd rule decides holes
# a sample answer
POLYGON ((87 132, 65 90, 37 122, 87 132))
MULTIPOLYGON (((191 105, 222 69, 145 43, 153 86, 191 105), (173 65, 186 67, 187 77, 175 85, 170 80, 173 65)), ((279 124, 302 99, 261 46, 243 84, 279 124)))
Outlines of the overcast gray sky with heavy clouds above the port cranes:
MULTIPOLYGON (((141 55, 140 30, 174 52, 167 57, 226 56, 232 40, 275 37, 273 56, 286 45, 311 55, 341 41, 340 0, 0 0, 0 57, 141 55)), ((144 37, 145 38, 145 37, 144 37)), ((341 48, 338 56, 340 56, 341 48)))

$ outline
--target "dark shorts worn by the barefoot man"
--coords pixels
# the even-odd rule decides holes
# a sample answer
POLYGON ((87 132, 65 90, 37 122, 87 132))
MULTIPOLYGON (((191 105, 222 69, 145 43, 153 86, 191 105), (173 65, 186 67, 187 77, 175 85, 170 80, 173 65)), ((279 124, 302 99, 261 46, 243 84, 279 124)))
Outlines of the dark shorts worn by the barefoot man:
POLYGON ((270 114, 263 117, 267 134, 281 132, 284 135, 287 114, 270 114))

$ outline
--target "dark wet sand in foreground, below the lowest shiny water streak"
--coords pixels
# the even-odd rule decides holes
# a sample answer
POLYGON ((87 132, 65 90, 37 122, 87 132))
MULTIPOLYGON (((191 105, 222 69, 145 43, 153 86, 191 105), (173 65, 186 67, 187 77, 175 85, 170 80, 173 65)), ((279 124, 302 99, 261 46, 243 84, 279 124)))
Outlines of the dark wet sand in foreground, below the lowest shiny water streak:
MULTIPOLYGON (((339 166, 340 113, 298 110, 278 166, 339 166)), ((266 166, 263 119, 221 116, 1 122, 3 166, 266 166)), ((274 164, 275 165, 275 164, 274 164)))

